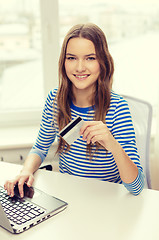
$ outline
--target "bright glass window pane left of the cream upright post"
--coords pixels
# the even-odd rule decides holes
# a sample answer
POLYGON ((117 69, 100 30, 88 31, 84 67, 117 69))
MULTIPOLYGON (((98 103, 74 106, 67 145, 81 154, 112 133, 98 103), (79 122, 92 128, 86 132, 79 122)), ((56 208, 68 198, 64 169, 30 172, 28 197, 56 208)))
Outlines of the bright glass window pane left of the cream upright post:
POLYGON ((18 2, 3 1, 0 8, 1 111, 30 109, 42 104, 38 96, 43 96, 39 1, 18 2))

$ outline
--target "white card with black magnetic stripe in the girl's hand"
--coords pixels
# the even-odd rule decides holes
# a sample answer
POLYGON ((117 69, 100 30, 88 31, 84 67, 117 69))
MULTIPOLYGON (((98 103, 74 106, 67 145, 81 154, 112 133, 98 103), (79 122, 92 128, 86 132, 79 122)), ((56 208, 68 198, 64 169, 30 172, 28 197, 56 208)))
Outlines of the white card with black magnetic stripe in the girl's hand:
POLYGON ((66 125, 59 134, 69 145, 71 145, 80 137, 80 129, 83 124, 84 120, 81 117, 76 117, 66 125))

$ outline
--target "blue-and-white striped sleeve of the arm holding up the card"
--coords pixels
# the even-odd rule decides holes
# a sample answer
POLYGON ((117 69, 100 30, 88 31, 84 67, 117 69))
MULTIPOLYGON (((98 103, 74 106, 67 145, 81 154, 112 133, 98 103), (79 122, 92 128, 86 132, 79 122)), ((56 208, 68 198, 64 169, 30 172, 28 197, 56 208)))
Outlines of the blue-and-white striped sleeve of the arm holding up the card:
POLYGON ((112 134, 138 168, 138 176, 132 183, 123 182, 128 191, 134 195, 138 195, 144 187, 145 177, 140 164, 140 156, 136 146, 135 131, 129 106, 122 97, 115 110, 112 134))

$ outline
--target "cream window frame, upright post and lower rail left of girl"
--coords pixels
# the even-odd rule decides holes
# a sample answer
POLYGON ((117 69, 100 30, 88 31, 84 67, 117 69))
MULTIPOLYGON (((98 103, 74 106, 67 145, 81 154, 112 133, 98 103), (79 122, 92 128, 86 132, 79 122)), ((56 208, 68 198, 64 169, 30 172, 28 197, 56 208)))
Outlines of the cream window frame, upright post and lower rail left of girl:
MULTIPOLYGON (((42 35, 44 100, 55 82, 58 84, 59 10, 58 0, 39 0, 42 35)), ((42 106, 43 107, 43 106, 42 106)), ((41 108, 0 112, 0 128, 38 124, 41 108)))

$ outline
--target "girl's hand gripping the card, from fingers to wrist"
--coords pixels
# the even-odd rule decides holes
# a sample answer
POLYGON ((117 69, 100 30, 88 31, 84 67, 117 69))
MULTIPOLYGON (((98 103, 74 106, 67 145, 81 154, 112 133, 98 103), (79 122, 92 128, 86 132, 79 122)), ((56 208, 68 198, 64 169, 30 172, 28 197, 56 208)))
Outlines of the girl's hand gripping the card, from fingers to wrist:
POLYGON ((107 125, 102 121, 85 122, 80 130, 80 134, 83 135, 83 140, 86 140, 87 144, 98 142, 107 150, 112 149, 115 141, 107 125))

